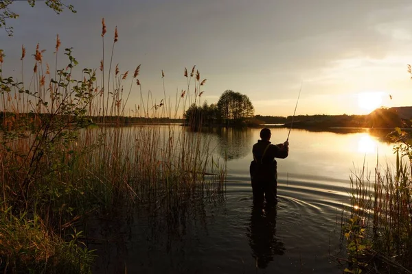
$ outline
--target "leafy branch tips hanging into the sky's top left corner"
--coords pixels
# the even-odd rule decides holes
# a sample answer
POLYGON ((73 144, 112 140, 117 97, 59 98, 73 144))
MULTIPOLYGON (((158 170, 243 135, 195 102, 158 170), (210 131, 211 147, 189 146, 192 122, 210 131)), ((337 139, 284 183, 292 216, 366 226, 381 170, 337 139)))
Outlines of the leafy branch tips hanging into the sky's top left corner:
MULTIPOLYGON (((19 14, 16 14, 12 10, 10 10, 10 5, 14 2, 14 0, 1 0, 0 1, 0 28, 4 27, 5 32, 7 32, 8 36, 13 36, 13 27, 8 27, 6 25, 7 19, 16 19, 19 17, 19 14)), ((27 2, 34 7, 36 5, 36 0, 27 0, 27 2)), ((61 0, 46 0, 45 4, 54 10, 56 14, 60 14, 65 8, 69 9, 71 12, 76 13, 74 10, 73 5, 66 5, 61 0)))

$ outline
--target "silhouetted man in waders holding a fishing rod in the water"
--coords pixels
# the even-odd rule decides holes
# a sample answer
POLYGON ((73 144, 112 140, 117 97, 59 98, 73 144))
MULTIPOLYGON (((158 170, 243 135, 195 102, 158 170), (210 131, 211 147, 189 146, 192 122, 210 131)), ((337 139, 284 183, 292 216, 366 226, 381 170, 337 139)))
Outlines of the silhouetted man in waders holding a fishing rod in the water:
POLYGON ((267 203, 277 203, 277 162, 275 158, 286 158, 289 152, 289 142, 272 145, 271 129, 260 131, 260 138, 253 145, 253 161, 250 166, 253 201, 261 203, 266 198, 267 203))

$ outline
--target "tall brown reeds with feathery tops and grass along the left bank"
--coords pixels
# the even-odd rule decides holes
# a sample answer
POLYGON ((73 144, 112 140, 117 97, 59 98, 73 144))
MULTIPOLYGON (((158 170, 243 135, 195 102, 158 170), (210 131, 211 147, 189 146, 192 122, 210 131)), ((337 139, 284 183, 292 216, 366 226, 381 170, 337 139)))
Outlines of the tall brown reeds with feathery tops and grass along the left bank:
MULTIPOLYGON (((105 75, 105 34, 102 21, 100 72, 83 69, 77 72, 79 80, 74 79, 78 61, 70 48, 65 49, 67 64, 59 69, 58 36, 55 70, 45 64, 38 45, 28 83, 3 75, 1 52, 0 269, 4 271, 89 273, 93 252, 82 245, 77 232, 78 227, 87 227, 84 217, 124 205, 179 203, 224 190, 225 161, 213 156, 214 148, 202 134, 177 125, 124 127, 130 92, 138 90, 140 95, 135 110, 129 110, 135 118, 177 119, 188 105, 200 104, 205 79, 195 66, 190 75, 185 69, 187 90, 176 93, 172 110, 163 71, 163 98, 157 102, 150 91, 143 95, 140 65, 133 75, 112 68, 117 29, 105 75), (124 92, 128 77, 133 79, 124 92)), ((27 77, 24 60, 22 47, 21 79, 27 77)))

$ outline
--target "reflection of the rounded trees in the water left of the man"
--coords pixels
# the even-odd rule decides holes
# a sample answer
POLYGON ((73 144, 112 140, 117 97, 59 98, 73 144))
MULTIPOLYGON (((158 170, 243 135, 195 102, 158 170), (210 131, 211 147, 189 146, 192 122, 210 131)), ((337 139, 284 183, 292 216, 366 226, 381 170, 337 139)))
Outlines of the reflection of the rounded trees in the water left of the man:
POLYGON ((214 127, 210 133, 217 134, 218 153, 227 160, 240 159, 252 151, 252 129, 236 127, 214 127))

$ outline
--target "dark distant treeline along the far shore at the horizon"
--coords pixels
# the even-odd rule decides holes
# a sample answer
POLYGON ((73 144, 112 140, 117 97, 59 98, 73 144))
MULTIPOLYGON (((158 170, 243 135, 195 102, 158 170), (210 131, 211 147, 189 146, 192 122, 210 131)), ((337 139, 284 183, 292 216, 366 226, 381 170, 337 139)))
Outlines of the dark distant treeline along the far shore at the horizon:
MULTIPOLYGON (((206 126, 227 126, 225 120, 220 118, 216 113, 217 108, 211 108, 213 105, 203 105, 203 107, 192 106, 187 110, 185 119, 170 119, 170 118, 146 118, 146 117, 132 117, 132 116, 87 116, 84 123, 95 124, 141 124, 141 123, 186 123, 188 117, 201 118, 201 122, 206 126), (205 111, 207 108, 207 112, 205 111), (191 110, 198 111, 198 115, 188 115, 191 110), (212 111, 213 110, 213 111, 212 111)), ((14 113, 0 112, 1 127, 10 127, 10 125, 19 126, 13 123, 14 113), (6 117, 4 119, 3 117, 6 117)), ((36 123, 36 119, 47 119, 49 114, 34 114, 28 113, 27 119, 36 123)), ((71 116, 67 116, 67 121, 71 120, 71 116)), ((293 116, 262 116, 255 115, 249 119, 238 119, 240 124, 249 127, 260 127, 264 124, 279 124, 290 127, 293 121, 293 127, 296 128, 328 128, 328 127, 411 127, 410 119, 402 119, 394 108, 378 108, 367 115, 297 115, 293 116)), ((233 121, 238 121, 234 119, 233 121)), ((230 124, 231 125, 231 124, 230 124)))

